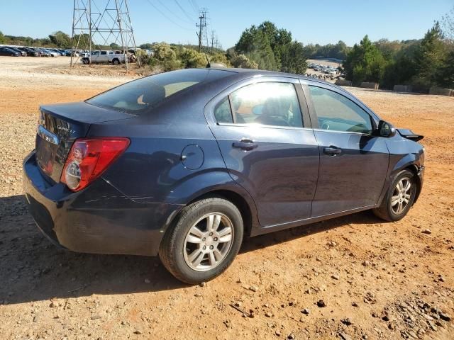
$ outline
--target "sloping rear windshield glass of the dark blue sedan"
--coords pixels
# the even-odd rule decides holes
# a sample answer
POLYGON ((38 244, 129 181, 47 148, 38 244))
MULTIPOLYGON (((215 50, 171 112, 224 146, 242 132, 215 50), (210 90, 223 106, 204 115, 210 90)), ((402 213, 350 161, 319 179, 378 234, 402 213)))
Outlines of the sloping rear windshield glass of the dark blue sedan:
POLYGON ((202 82, 213 81, 231 75, 218 69, 182 69, 155 74, 111 89, 87 100, 101 108, 113 108, 140 115, 154 108, 165 98, 202 82))

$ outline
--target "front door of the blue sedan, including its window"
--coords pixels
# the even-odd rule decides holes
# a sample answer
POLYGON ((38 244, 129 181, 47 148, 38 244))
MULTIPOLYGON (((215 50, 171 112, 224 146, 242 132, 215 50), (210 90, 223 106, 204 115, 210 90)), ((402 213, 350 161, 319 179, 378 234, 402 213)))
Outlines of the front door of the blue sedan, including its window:
POLYGON ((309 85, 309 94, 320 152, 312 217, 372 207, 382 193, 389 164, 384 137, 372 135, 374 118, 331 86, 309 85))

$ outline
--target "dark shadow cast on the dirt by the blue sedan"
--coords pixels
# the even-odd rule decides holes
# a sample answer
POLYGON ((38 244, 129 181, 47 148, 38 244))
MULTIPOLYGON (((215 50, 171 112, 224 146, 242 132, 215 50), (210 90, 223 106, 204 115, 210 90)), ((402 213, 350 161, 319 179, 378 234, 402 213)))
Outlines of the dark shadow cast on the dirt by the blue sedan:
MULTIPOLYGON (((247 239, 240 253, 349 223, 374 222, 377 219, 370 212, 360 212, 295 227, 247 239)), ((0 198, 0 277, 0 305, 187 287, 173 278, 157 258, 79 254, 58 249, 35 226, 23 195, 0 198)))

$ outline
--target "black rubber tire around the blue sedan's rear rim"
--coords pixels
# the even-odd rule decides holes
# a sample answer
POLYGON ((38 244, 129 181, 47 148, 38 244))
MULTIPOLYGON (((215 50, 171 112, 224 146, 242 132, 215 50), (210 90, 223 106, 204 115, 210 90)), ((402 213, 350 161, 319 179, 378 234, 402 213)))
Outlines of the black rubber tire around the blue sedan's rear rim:
MULTIPOLYGON (((167 229, 159 249, 159 256, 170 273, 184 283, 197 284, 216 278, 226 271, 240 250, 243 240, 243 218, 236 205, 223 198, 205 198, 185 207, 172 227, 167 229), (220 213, 228 217, 233 228, 231 245, 225 257, 214 268, 196 271, 189 267, 184 252, 187 251, 186 238, 197 221, 210 213, 220 213)), ((203 255, 205 256, 205 255, 203 255)), ((203 257, 202 256, 202 257, 203 257)))

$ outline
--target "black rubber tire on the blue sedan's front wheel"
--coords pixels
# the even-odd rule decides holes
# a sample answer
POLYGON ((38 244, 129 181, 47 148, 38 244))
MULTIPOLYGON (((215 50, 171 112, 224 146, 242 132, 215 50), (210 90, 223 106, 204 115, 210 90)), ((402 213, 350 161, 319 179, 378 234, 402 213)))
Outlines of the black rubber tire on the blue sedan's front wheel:
MULTIPOLYGON (((386 195, 384 196, 380 207, 375 208, 372 211, 374 212, 374 214, 377 217, 380 217, 383 220, 386 220, 389 222, 402 220, 402 218, 405 217, 405 215, 409 212, 411 206, 414 203, 414 198, 416 197, 417 186, 418 186, 418 183, 416 181, 416 178, 415 178, 415 175, 413 172, 411 172, 409 170, 400 171, 399 174, 397 174, 394 177, 394 180, 392 181, 391 185, 389 186, 388 191, 387 191, 386 195), (393 205, 392 205, 392 197, 398 191, 397 184, 404 179, 408 179, 409 183, 411 184, 411 186, 409 188, 410 193, 409 194, 407 193, 410 196, 409 201, 408 201, 408 203, 406 203, 405 207, 403 207, 402 211, 395 211, 396 209, 393 208, 393 205)), ((394 195, 394 197, 397 197, 397 196, 394 195)), ((397 204, 399 204, 399 203, 397 203, 397 204)))

